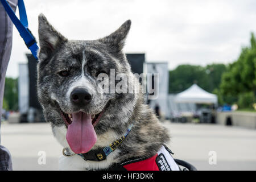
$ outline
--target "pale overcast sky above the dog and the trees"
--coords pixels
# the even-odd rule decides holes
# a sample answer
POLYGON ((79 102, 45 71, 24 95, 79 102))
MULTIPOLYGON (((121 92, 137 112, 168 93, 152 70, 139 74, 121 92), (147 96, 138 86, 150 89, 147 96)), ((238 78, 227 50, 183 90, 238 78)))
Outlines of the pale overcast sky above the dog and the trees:
MULTIPOLYGON (((146 61, 180 64, 231 63, 256 33, 254 0, 25 0, 30 30, 38 39, 38 15, 68 39, 92 40, 132 25, 124 51, 146 53, 146 61)), ((18 15, 18 10, 16 11, 18 15)), ((18 63, 28 53, 14 27, 7 76, 18 77, 18 63)))

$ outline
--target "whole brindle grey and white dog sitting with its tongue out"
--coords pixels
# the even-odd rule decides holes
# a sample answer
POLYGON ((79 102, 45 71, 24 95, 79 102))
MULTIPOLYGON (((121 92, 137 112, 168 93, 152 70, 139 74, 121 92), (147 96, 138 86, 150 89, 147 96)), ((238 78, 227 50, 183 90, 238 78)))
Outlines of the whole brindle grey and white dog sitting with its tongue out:
MULTIPOLYGON (((60 169, 127 169, 133 162, 142 162, 143 167, 148 160, 156 161, 161 148, 167 150, 163 146, 170 141, 168 130, 144 104, 143 93, 101 92, 99 86, 97 77, 110 76, 114 70, 115 75, 134 78, 129 87, 141 90, 122 51, 130 26, 127 20, 104 38, 68 40, 39 15, 38 99, 64 147, 60 169), (108 155, 102 154, 106 146, 112 150, 108 155)), ((113 84, 117 86, 117 80, 109 81, 113 84)))

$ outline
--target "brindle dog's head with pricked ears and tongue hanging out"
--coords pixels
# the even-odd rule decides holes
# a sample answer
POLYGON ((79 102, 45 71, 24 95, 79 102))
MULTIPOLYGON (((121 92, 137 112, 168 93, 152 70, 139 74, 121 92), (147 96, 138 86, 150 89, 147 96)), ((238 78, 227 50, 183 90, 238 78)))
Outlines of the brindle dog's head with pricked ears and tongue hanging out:
MULTIPOLYGON (((67 127, 67 142, 76 153, 89 151, 110 129, 127 128, 137 98, 135 93, 115 92, 115 76, 131 75, 122 52, 130 25, 127 20, 98 40, 68 40, 39 15, 39 102, 52 126, 67 127)), ((128 82, 122 84, 121 89, 128 82)))

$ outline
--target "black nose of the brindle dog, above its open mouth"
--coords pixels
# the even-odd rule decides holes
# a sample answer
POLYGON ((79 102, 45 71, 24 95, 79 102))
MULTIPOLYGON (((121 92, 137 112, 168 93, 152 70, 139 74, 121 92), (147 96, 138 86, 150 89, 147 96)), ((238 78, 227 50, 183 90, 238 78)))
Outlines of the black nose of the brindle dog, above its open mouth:
POLYGON ((76 105, 89 104, 92 95, 86 89, 76 88, 71 92, 71 101, 76 105))

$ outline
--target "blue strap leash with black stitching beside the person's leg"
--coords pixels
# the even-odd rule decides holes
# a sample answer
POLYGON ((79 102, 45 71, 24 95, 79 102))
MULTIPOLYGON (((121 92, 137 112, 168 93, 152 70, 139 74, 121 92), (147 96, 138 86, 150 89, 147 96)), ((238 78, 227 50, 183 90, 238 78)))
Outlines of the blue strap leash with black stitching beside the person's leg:
POLYGON ((38 45, 36 44, 36 39, 31 31, 28 29, 28 22, 27 22, 27 13, 25 9, 25 5, 23 0, 18 0, 18 7, 19 7, 19 18, 15 15, 13 9, 11 9, 10 5, 7 3, 6 0, 0 0, 3 7, 5 8, 6 13, 9 15, 11 21, 19 31, 20 36, 23 38, 26 46, 30 49, 32 55, 38 60, 37 51, 39 49, 38 45))

